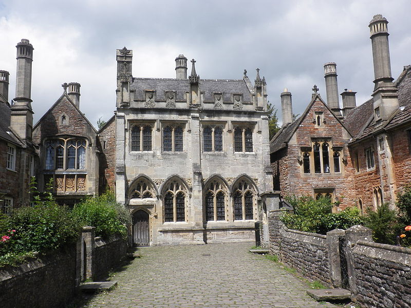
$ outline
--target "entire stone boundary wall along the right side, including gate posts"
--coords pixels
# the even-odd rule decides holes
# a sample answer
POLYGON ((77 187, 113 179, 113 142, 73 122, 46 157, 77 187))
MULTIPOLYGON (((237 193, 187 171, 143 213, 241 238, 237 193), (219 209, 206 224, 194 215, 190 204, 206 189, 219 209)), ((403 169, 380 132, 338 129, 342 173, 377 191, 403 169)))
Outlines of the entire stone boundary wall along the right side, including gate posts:
POLYGON ((362 308, 411 307, 411 249, 372 241, 352 226, 327 235, 287 229, 281 211, 269 215, 269 251, 308 278, 351 291, 362 308))

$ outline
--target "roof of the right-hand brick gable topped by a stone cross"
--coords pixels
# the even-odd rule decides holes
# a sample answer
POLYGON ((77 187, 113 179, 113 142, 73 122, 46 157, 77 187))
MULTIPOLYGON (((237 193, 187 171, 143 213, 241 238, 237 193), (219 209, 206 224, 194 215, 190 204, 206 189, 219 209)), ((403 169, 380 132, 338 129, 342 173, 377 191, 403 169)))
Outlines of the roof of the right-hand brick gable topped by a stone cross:
MULTIPOLYGON (((335 115, 335 113, 327 106, 327 104, 323 101, 319 93, 312 94, 311 102, 308 104, 307 108, 302 113, 301 117, 295 120, 291 124, 287 124, 286 126, 282 127, 275 136, 270 141, 270 153, 274 153, 278 150, 287 146, 287 143, 290 141, 292 135, 294 134, 295 130, 300 126, 301 122, 307 116, 307 113, 310 111, 312 105, 315 101, 319 100, 323 105, 330 111, 330 113, 340 122, 341 126, 346 128, 341 120, 335 115)), ((349 132, 349 130, 347 129, 349 132)))

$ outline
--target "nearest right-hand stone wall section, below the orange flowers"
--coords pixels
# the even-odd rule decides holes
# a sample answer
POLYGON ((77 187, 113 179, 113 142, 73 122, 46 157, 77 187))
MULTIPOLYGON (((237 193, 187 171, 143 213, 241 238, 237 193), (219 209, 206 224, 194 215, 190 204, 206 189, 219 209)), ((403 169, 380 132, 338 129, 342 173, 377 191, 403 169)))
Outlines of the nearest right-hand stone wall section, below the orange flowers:
POLYGON ((411 249, 358 241, 352 254, 361 307, 411 307, 411 249))

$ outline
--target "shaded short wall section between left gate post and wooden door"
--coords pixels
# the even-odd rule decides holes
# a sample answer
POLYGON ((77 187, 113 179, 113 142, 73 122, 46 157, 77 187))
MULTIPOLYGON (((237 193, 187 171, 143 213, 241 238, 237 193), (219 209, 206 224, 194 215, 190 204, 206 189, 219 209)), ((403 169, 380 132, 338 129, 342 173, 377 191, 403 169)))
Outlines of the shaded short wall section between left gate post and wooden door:
POLYGON ((121 259, 127 253, 127 242, 121 237, 103 240, 95 239, 95 252, 93 262, 95 262, 94 280, 101 281, 107 278, 111 268, 118 266, 121 259))

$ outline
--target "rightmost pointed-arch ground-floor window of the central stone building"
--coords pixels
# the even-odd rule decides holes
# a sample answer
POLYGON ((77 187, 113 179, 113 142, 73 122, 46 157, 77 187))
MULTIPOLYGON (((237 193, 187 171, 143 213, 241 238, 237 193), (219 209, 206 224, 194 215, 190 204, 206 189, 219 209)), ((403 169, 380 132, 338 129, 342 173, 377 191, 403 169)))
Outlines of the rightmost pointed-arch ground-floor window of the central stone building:
POLYGON ((240 180, 234 187, 234 220, 253 219, 255 196, 253 186, 247 180, 240 180))

